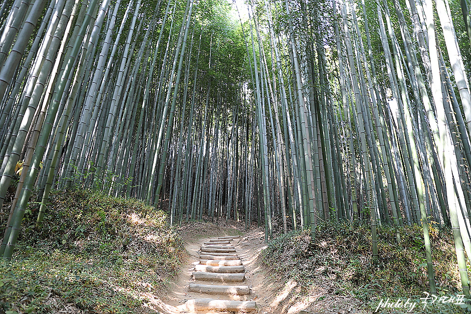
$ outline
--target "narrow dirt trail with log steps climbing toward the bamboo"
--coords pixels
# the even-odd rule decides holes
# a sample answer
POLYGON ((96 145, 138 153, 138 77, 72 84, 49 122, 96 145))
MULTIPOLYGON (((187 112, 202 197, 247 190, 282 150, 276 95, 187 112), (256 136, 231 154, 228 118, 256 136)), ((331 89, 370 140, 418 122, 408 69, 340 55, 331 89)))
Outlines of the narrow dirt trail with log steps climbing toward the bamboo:
POLYGON ((257 263, 263 247, 262 231, 187 243, 189 259, 177 281, 156 300, 157 307, 169 314, 273 313, 270 303, 279 287, 257 263))

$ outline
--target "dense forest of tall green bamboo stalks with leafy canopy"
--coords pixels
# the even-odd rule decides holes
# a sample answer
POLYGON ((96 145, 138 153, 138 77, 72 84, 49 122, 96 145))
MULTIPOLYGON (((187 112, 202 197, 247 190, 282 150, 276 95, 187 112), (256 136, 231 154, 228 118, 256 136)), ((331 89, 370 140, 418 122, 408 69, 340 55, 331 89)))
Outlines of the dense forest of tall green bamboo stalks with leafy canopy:
MULTIPOLYGON (((431 294, 448 280, 434 238, 449 234, 469 303, 470 5, 2 0, 5 269, 54 206, 68 210, 53 197, 93 190, 163 210, 168 233, 235 221, 264 242, 314 241, 329 222, 366 226, 375 267, 382 230, 400 250, 417 227, 431 294)), ((0 313, 32 313, 18 309, 0 313)))

